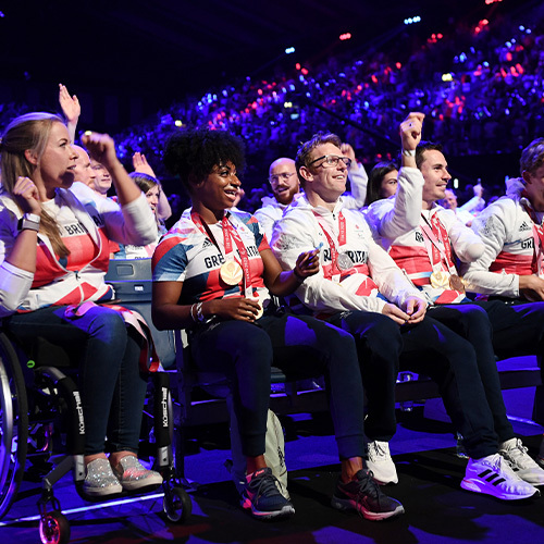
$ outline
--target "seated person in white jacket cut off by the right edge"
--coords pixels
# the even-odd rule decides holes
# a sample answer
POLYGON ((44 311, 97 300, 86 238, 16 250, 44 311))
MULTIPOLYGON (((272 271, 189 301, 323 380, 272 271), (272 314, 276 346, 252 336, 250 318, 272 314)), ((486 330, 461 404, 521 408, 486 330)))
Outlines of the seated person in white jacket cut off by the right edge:
MULTIPOLYGON (((506 337, 519 355, 543 354, 544 337, 544 138, 520 159, 521 177, 511 178, 506 196, 472 222, 485 250, 465 270, 465 279, 482 297, 507 302, 519 323, 506 337)), ((541 368, 544 372, 544 369, 541 368)), ((544 467, 544 440, 536 461, 544 467)))

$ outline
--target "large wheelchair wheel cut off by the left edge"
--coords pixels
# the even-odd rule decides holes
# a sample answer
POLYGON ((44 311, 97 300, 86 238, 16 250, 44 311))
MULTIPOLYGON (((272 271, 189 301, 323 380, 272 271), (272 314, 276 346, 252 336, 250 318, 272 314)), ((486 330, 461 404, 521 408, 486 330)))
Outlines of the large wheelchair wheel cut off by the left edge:
POLYGON ((0 334, 0 518, 10 509, 23 479, 27 437, 23 372, 11 343, 0 334))

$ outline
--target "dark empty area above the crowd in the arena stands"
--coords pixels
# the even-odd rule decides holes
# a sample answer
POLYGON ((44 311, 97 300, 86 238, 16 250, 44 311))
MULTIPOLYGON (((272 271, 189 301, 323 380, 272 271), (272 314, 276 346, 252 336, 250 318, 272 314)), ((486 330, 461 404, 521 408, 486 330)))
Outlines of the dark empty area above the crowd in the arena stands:
MULTIPOLYGON (((296 62, 446 33, 454 21, 519 12, 534 0, 95 0, 0 3, 0 104, 58 110, 64 83, 82 122, 116 133, 161 108, 296 62), (420 15, 422 22, 403 21, 420 15), (342 33, 351 33, 339 41, 342 33), (286 55, 294 46, 295 54, 286 55)), ((0 106, 1 107, 1 106, 0 106)), ((5 106, 4 106, 5 107, 5 106)))

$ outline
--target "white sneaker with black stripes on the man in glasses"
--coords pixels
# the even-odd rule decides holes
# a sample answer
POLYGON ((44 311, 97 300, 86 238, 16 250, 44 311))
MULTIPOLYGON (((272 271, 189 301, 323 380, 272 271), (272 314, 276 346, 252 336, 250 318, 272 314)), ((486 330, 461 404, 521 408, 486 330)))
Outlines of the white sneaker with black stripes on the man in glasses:
POLYGON ((461 487, 485 493, 503 500, 517 500, 540 495, 540 491, 524 482, 499 454, 481 459, 469 459, 461 487))

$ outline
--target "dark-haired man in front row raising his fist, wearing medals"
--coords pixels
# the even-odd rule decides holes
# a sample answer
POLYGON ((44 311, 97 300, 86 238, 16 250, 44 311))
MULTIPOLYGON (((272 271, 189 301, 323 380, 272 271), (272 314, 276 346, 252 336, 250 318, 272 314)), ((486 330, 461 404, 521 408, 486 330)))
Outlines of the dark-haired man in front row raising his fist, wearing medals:
POLYGON ((371 205, 367 218, 406 276, 433 302, 429 316, 471 344, 499 454, 521 479, 544 485, 544 471, 515 436, 507 418, 495 359, 495 354, 505 358, 527 353, 520 341, 526 325, 502 302, 472 302, 467 297, 466 288, 472 286, 461 280, 455 261, 478 259, 484 245, 453 211, 436 203, 452 176, 442 146, 421 141, 423 120, 422 113, 413 112, 400 124, 403 168, 397 194, 371 205))

